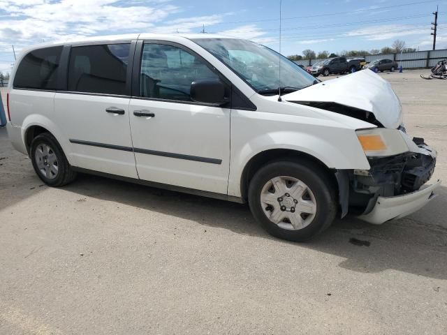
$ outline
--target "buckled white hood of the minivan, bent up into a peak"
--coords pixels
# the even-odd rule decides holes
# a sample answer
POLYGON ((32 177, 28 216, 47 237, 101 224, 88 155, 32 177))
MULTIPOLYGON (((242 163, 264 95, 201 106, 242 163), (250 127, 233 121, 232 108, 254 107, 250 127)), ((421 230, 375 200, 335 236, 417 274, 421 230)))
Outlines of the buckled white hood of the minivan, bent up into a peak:
POLYGON ((371 70, 320 82, 283 96, 286 101, 339 103, 372 112, 386 128, 402 124, 402 107, 391 85, 371 70))

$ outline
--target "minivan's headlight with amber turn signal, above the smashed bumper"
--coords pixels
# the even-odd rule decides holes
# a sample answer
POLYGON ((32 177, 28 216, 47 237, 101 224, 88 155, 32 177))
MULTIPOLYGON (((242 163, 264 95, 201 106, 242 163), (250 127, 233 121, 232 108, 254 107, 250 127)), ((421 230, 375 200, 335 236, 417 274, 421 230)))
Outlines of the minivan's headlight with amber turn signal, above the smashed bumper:
POLYGON ((356 131, 358 140, 368 157, 385 157, 409 151, 397 129, 374 128, 356 131))

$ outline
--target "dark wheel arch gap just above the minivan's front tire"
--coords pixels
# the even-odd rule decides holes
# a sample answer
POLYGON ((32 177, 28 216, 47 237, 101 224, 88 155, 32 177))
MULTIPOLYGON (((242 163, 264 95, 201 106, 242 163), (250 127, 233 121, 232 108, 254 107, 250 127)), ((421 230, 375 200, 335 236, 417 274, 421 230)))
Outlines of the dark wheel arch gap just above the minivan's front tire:
POLYGON ((253 156, 247 164, 244 166, 242 171, 242 176, 240 180, 240 191, 241 196, 244 201, 248 200, 248 190, 251 179, 254 174, 261 169, 263 166, 273 163, 275 161, 293 161, 293 162, 305 162, 309 165, 314 166, 316 169, 321 170, 321 172, 328 175, 335 188, 335 192, 338 194, 338 184, 335 177, 335 169, 328 168, 325 163, 320 161, 318 158, 307 154, 303 151, 297 151, 293 149, 269 149, 266 151, 261 151, 260 153, 253 156))

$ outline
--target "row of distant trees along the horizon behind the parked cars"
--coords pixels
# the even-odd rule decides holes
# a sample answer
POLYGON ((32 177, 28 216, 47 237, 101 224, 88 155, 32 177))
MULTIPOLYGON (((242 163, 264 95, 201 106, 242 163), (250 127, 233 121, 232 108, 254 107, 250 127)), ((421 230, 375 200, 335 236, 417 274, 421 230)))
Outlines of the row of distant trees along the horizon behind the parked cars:
POLYGON ((306 49, 302 51, 301 54, 293 54, 291 56, 288 56, 287 58, 291 61, 299 61, 300 59, 325 59, 325 58, 332 58, 332 57, 358 57, 358 56, 367 56, 368 54, 400 54, 401 52, 415 52, 416 49, 414 47, 406 47, 405 42, 403 40, 395 40, 393 42, 393 45, 391 47, 382 47, 379 49, 372 49, 372 50, 343 50, 339 52, 338 54, 335 54, 334 52, 329 53, 326 50, 323 50, 321 52, 314 52, 314 50, 306 49))

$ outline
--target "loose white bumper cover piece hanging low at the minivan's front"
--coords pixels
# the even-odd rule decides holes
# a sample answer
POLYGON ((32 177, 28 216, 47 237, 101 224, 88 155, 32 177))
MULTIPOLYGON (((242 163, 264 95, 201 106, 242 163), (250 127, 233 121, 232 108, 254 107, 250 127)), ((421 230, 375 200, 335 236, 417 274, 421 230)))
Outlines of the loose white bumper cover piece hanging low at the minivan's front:
POLYGON ((438 180, 435 184, 425 185, 418 191, 396 195, 394 197, 377 198, 376 204, 369 214, 358 216, 358 218, 369 223, 380 225, 395 218, 402 218, 418 211, 432 200, 436 194, 434 190, 441 184, 438 180))

